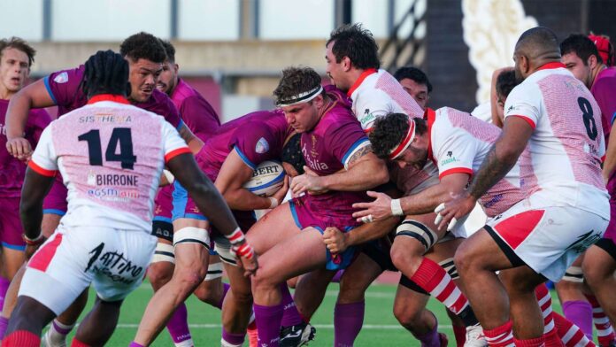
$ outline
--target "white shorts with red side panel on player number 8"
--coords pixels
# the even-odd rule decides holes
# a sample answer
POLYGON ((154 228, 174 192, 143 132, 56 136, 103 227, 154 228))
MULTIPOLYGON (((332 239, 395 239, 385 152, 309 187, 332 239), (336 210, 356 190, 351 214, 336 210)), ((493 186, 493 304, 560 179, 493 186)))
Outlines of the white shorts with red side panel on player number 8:
POLYGON ((608 221, 576 207, 554 206, 539 191, 489 220, 485 228, 514 266, 526 264, 559 281, 575 258, 602 237, 608 221))

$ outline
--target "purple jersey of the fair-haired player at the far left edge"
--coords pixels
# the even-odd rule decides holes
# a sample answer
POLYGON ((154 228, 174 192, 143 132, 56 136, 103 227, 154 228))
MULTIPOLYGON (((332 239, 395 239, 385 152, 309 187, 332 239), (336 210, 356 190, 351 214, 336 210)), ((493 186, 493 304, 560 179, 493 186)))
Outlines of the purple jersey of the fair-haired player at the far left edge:
MULTIPOLYGON (((9 106, 8 100, 0 99, 0 197, 20 197, 21 185, 26 174, 26 164, 13 158, 6 150, 5 117, 9 106)), ((24 136, 32 148, 36 147, 41 137, 42 129, 51 122, 50 115, 42 109, 30 110, 27 117, 24 136)), ((15 208, 18 206, 12 206, 15 208)))

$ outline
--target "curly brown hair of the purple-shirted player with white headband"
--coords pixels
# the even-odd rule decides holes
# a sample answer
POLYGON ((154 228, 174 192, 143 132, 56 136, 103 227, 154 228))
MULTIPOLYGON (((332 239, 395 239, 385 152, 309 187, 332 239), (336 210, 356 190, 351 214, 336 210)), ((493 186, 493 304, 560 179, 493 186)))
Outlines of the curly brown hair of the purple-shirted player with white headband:
POLYGON ((274 102, 276 105, 284 104, 293 96, 319 87, 320 83, 321 77, 312 67, 287 67, 282 70, 281 81, 273 90, 274 102))

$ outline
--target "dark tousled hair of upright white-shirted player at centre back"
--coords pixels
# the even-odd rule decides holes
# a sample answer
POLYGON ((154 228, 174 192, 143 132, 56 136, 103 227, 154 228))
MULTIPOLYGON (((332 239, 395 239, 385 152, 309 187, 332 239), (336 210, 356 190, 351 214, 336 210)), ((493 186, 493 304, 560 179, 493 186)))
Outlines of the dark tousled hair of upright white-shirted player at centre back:
POLYGON ((345 24, 336 28, 330 35, 325 46, 334 42, 332 53, 335 62, 340 63, 344 57, 350 58, 350 63, 358 69, 378 69, 379 45, 374 41, 372 33, 361 24, 345 24))

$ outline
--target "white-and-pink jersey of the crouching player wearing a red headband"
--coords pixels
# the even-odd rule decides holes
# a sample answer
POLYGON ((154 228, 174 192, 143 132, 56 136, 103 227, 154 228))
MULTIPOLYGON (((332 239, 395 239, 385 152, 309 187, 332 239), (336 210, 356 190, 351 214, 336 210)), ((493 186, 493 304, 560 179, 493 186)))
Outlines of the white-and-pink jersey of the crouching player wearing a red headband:
MULTIPOLYGON (((449 107, 427 112, 427 129, 428 157, 438 166, 439 179, 448 174, 473 176, 501 134, 499 127, 449 107)), ((479 204, 489 217, 494 217, 522 199, 520 166, 516 164, 481 197, 479 204)))

